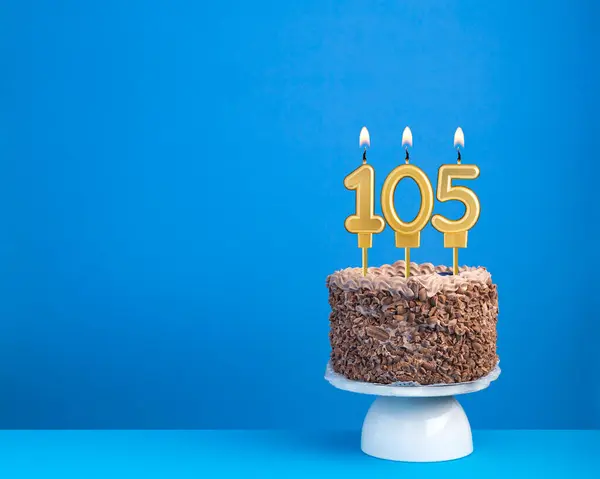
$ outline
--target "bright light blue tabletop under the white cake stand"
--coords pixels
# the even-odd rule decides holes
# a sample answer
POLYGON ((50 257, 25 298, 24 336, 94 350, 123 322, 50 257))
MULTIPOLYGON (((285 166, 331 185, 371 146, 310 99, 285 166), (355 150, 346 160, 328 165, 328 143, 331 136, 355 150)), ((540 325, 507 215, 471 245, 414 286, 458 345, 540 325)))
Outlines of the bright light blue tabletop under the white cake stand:
POLYGON ((0 431, 0 477, 600 477, 600 431, 475 431, 436 464, 374 459, 357 432, 0 431))

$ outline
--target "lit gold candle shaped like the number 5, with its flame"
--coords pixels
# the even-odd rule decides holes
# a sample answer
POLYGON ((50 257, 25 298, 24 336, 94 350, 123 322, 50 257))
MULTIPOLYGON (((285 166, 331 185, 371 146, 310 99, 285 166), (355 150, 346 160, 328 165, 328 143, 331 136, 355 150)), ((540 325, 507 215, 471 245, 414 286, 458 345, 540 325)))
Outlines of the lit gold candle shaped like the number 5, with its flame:
POLYGON ((464 186, 452 186, 452 180, 474 180, 479 176, 477 165, 463 165, 460 147, 464 148, 465 137, 462 128, 458 127, 454 134, 454 147, 458 150, 456 165, 442 165, 438 170, 437 199, 439 201, 457 200, 465 205, 465 214, 459 220, 449 220, 442 215, 434 215, 431 224, 440 233, 444 233, 444 248, 452 248, 452 268, 454 274, 458 274, 458 248, 467 247, 468 232, 477 220, 481 212, 479 198, 469 188, 464 186))

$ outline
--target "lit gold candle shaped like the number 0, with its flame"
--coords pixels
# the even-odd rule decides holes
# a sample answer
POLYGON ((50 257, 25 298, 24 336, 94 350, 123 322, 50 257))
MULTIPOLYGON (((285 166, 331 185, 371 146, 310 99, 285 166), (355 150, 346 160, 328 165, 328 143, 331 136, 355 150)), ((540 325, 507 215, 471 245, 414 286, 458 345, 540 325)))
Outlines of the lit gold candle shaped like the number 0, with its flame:
POLYGON ((421 230, 425 228, 433 212, 433 188, 425 172, 419 167, 409 164, 408 147, 412 147, 412 132, 409 127, 406 127, 402 133, 402 146, 406 146, 405 164, 397 166, 385 179, 381 191, 381 209, 385 220, 395 231, 396 247, 404 248, 404 276, 408 278, 410 276, 410 249, 418 248, 421 245, 421 230), (400 219, 394 207, 396 187, 404 178, 412 178, 421 194, 419 212, 409 223, 400 219))

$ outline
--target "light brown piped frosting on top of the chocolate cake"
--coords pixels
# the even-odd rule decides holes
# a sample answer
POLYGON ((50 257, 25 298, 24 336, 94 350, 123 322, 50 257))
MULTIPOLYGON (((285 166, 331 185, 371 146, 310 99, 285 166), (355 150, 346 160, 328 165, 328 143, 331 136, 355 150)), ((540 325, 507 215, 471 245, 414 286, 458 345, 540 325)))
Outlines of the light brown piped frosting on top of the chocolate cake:
MULTIPOLYGON (((434 266, 432 263, 410 263, 410 276, 404 277, 404 261, 385 264, 368 269, 367 276, 362 275, 361 268, 346 268, 329 275, 327 286, 335 285, 344 291, 370 289, 373 291, 389 291, 401 294, 407 298, 418 296, 419 291, 425 290, 427 297, 443 292, 464 292, 472 283, 491 284, 492 276, 483 267, 462 266, 459 274, 440 275, 438 273, 452 272, 448 266, 434 266)), ((422 294, 422 293, 421 293, 422 294)))

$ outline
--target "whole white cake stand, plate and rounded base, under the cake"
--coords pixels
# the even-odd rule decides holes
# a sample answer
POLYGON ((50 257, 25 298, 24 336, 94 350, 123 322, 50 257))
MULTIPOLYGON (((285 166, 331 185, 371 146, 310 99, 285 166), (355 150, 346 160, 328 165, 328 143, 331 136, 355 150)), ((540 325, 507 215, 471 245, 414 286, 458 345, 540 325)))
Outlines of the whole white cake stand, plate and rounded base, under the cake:
POLYGON ((454 396, 481 391, 498 376, 496 365, 477 381, 419 386, 352 381, 334 372, 329 363, 325 371, 325 379, 338 389, 379 396, 363 423, 363 452, 406 462, 450 461, 471 454, 471 425, 454 396))

